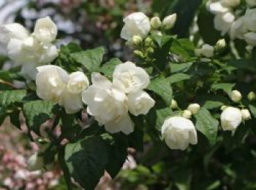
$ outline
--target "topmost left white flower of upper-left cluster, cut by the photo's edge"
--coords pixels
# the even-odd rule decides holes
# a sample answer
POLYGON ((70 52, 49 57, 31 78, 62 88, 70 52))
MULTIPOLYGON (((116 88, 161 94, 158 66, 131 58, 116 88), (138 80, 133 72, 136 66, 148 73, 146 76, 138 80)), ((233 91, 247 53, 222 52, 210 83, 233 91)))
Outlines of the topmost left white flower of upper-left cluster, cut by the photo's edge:
POLYGON ((12 23, 0 26, 0 41, 8 44, 10 39, 26 39, 29 37, 29 32, 23 25, 12 23))

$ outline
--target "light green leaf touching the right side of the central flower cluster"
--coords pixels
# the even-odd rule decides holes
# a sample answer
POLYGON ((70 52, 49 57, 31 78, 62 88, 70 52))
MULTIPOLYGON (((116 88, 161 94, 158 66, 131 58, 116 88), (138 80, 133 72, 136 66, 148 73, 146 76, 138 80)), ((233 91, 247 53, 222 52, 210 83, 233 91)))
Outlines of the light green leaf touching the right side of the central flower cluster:
POLYGON ((170 82, 168 79, 165 79, 162 76, 158 76, 157 78, 151 80, 150 84, 148 85, 148 90, 155 92, 163 100, 165 100, 167 106, 170 106, 173 90, 170 87, 170 82))

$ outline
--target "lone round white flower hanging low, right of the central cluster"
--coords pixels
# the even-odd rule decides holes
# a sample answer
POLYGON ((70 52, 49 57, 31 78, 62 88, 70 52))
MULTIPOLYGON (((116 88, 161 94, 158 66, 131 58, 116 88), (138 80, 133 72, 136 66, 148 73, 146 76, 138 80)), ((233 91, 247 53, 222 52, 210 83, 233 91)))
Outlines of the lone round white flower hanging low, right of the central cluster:
POLYGON ((189 143, 197 143, 195 125, 181 116, 173 116, 165 119, 162 125, 162 136, 170 149, 185 150, 189 143))

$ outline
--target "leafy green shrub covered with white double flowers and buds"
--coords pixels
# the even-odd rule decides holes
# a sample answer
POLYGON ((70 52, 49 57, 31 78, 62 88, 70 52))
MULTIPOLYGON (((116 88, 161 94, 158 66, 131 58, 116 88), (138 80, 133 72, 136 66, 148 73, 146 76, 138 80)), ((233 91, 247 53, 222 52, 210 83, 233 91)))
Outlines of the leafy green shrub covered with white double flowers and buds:
MULTIPOLYGON (((184 1, 174 5, 187 6, 184 1)), ((94 189, 105 171, 116 177, 128 148, 143 151, 143 140, 150 139, 153 146, 165 151, 185 151, 193 159, 184 157, 184 166, 199 162, 195 154, 204 155, 210 149, 203 161, 207 167, 219 146, 235 141, 236 135, 241 143, 253 135, 255 4, 207 1, 201 6, 198 22, 194 22, 199 31, 192 32, 193 41, 180 38, 181 31, 174 34, 187 19, 178 8, 177 13, 162 18, 150 18, 143 12, 127 15, 120 36, 133 50, 133 62, 105 61, 103 47, 83 50, 69 43, 57 50, 57 27, 50 17, 37 20, 33 33, 18 23, 2 25, 1 39, 18 67, 0 73, 0 122, 10 116, 20 127, 20 114, 25 117, 28 135, 40 147, 28 160, 30 170, 60 166, 68 189, 72 189, 72 179, 84 189, 94 189), (246 19, 239 24, 233 12, 236 7, 238 16, 248 7, 241 16, 246 19), (214 13, 211 28, 221 31, 216 40, 204 33, 208 28, 202 24, 203 15, 208 10, 214 13), (17 79, 26 82, 23 89, 12 84, 17 79), (53 119, 50 129, 42 131, 49 119, 53 119), (61 132, 56 134, 58 126, 61 132)), ((196 9, 189 14, 195 15, 196 9)), ((156 150, 154 157, 162 156, 156 150)), ((157 181, 158 174, 164 178, 159 186, 172 188, 164 176, 168 173, 165 166, 152 167, 154 175, 142 166, 136 168, 134 173, 151 181, 157 181)), ((189 173, 184 178, 190 181, 192 177, 189 173)), ((175 186, 182 189, 178 181, 175 186)), ((209 183, 206 187, 214 189, 209 183)))

